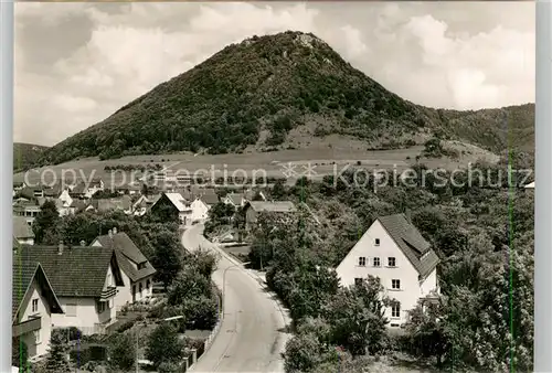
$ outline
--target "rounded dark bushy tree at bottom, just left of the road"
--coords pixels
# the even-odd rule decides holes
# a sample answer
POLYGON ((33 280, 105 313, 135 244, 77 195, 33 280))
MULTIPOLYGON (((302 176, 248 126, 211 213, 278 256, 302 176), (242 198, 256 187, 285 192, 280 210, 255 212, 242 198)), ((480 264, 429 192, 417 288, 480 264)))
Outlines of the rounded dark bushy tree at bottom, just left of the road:
POLYGON ((146 358, 156 367, 162 363, 180 361, 184 354, 184 343, 169 322, 161 322, 151 332, 146 347, 146 358))

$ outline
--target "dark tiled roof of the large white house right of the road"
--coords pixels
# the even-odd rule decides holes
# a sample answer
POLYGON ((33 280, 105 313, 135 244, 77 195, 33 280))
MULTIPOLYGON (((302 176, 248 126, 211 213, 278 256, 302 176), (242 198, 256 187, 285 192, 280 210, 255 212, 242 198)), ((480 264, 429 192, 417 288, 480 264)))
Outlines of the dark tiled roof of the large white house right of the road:
POLYGON ((425 278, 439 263, 437 254, 404 214, 380 216, 378 221, 412 263, 422 278, 425 278))

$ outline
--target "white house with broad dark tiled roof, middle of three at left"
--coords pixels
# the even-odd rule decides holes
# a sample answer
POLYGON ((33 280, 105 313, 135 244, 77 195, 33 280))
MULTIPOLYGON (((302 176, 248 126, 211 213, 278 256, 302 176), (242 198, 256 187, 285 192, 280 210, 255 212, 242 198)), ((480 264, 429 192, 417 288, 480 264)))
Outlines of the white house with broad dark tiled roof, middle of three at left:
POLYGON ((21 246, 21 257, 41 264, 64 315, 53 315, 56 328, 78 328, 83 334, 105 333, 116 321, 115 296, 124 286, 112 248, 21 246))

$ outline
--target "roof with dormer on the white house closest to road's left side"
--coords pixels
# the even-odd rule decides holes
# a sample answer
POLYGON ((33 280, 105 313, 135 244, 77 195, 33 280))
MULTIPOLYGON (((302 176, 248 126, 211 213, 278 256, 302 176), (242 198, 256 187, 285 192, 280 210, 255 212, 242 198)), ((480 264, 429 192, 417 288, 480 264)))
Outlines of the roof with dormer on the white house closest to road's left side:
POLYGON ((119 232, 113 234, 112 236, 108 234, 102 235, 96 239, 103 247, 115 249, 120 269, 123 269, 132 283, 156 273, 156 269, 126 233, 119 232), (137 269, 135 265, 138 264, 144 264, 144 268, 137 269))

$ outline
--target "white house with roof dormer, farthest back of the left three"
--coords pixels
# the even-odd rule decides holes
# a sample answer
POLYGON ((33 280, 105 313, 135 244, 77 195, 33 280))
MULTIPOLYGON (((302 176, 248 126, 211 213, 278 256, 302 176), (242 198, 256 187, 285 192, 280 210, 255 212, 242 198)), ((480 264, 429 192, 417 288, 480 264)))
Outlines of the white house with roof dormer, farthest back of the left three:
POLYGON ((107 235, 98 236, 92 247, 113 248, 123 273, 124 285, 115 297, 116 311, 121 307, 152 296, 156 269, 148 262, 130 237, 114 227, 107 235))

